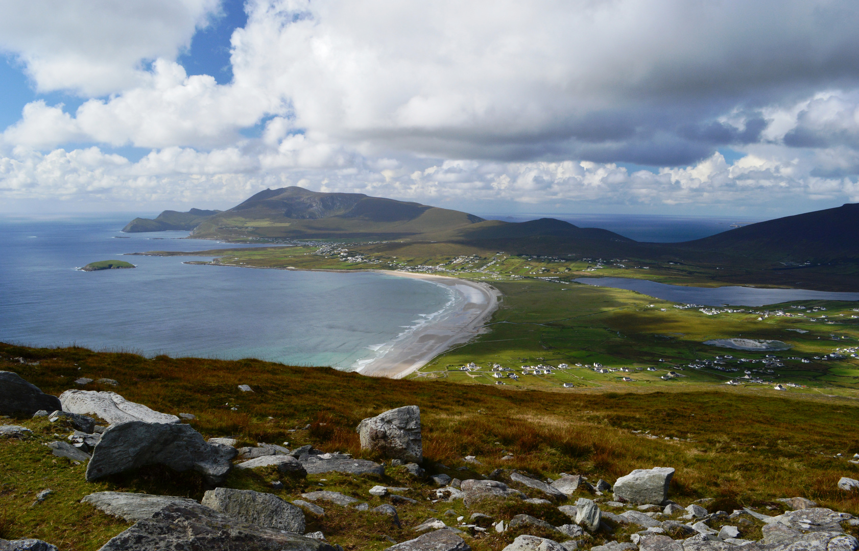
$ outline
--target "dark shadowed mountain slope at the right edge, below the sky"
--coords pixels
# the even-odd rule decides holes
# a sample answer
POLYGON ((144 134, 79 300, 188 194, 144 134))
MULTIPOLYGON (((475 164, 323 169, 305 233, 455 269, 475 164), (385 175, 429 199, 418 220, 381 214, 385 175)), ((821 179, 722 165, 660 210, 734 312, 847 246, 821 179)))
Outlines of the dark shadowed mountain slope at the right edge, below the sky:
POLYGON ((815 210, 679 243, 687 251, 719 251, 780 263, 859 260, 859 203, 815 210))

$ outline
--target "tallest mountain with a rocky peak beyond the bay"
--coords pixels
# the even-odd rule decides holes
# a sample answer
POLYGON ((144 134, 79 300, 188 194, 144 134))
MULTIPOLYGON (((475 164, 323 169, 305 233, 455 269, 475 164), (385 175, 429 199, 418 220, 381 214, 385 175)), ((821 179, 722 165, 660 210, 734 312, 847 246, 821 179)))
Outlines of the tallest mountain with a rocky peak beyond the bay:
POLYGON ((458 210, 291 186, 260 191, 203 221, 197 238, 399 239, 484 221, 458 210))

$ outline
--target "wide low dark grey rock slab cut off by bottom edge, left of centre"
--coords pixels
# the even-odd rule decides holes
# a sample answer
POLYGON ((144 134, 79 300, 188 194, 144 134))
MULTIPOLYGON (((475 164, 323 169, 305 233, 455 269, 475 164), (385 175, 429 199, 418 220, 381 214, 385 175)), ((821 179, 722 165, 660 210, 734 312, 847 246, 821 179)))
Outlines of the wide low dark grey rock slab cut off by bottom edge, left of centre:
POLYGON ((113 537, 100 551, 335 551, 332 545, 283 530, 248 524, 198 504, 165 506, 113 537))

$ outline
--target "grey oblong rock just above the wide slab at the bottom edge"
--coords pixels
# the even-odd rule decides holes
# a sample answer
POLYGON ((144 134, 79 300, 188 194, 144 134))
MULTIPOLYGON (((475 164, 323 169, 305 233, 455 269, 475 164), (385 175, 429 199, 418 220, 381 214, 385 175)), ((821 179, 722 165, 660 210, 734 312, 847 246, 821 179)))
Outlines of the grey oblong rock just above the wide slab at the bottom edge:
POLYGON ((200 503, 246 523, 298 534, 304 533, 302 510, 281 500, 273 493, 216 487, 204 493, 200 503))

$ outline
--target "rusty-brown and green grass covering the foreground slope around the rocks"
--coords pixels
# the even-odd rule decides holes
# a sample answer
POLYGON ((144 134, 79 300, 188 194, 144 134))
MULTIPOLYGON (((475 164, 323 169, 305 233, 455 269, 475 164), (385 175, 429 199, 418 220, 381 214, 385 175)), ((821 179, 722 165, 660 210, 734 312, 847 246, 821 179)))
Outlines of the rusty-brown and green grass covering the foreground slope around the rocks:
MULTIPOLYGON (((859 477, 847 458, 859 451, 853 400, 756 396, 751 391, 691 391, 582 394, 514 391, 445 381, 366 378, 327 368, 283 366, 259 360, 147 359, 135 354, 94 353, 83 348, 22 348, 0 344, 0 369, 15 371, 46 392, 76 387, 74 379, 113 378, 126 398, 166 413, 192 413, 192 425, 206 436, 235 436, 243 443, 314 444, 326 451, 362 456, 354 427, 364 417, 408 404, 421 408, 423 445, 430 472, 460 479, 492 469, 521 469, 539 477, 561 472, 614 481, 631 469, 677 469, 671 498, 681 504, 703 497, 720 509, 775 505, 779 497, 801 495, 821 506, 859 513, 859 496, 836 487, 841 476, 859 477), (13 360, 22 358, 21 360, 13 360), (32 365, 39 362, 38 365, 32 365), (250 384, 253 393, 238 391, 250 384), (235 408, 235 410, 233 409, 235 408), (308 430, 303 427, 309 425, 308 430), (298 429, 298 430, 295 430, 298 429), (633 433, 645 431, 652 438, 633 433), (658 438, 657 438, 658 437, 658 438), (510 453, 511 461, 501 461, 510 453), (837 454, 842 454, 838 457, 837 454), (475 455, 482 465, 465 463, 475 455), (446 467, 442 467, 443 463, 446 467), (477 469, 460 471, 460 467, 477 469)), ((96 549, 128 524, 80 504, 88 493, 112 489, 186 495, 199 499, 204 485, 193 473, 146 468, 87 483, 83 466, 53 457, 42 445, 64 437, 68 427, 37 420, 3 420, 32 427, 34 439, 0 441, 0 537, 39 537, 68 549, 96 549), (54 494, 31 506, 34 496, 54 494)), ((363 457, 375 458, 363 455, 363 457)), ((231 475, 228 485, 271 491, 275 473, 231 475)), ((279 494, 296 499, 308 489, 350 493, 370 505, 366 493, 377 482, 412 487, 417 505, 398 506, 404 529, 387 518, 325 506, 308 516, 314 530, 348 549, 381 549, 387 537, 413 537, 408 527, 461 502, 431 504, 430 488, 402 470, 386 477, 311 475, 285 480, 279 494), (323 480, 324 479, 324 480, 323 480), (322 486, 320 486, 320 484, 322 486), (387 537, 386 537, 387 536, 387 537)), ((537 497, 529 490, 533 497, 537 497)), ((381 502, 381 501, 380 501, 381 502)), ((521 506, 479 506, 471 512, 510 518, 521 506), (492 509, 494 507, 494 509, 492 509)), ((550 518, 551 507, 532 514, 550 518)), ((497 550, 515 533, 476 538, 472 548, 497 550)))

